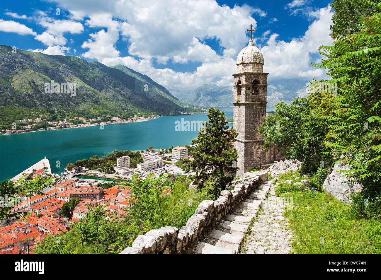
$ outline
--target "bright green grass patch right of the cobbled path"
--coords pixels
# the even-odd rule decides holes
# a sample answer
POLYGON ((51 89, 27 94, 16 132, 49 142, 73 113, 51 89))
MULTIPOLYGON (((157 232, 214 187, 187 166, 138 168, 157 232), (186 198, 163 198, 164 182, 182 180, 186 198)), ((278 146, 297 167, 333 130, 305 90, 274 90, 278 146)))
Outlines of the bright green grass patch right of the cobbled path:
MULTIPOLYGON (((283 197, 292 197, 293 208, 284 216, 293 231, 292 249, 299 254, 367 254, 381 253, 381 223, 363 219, 350 204, 340 202, 325 192, 301 190, 292 184, 296 173, 277 178, 275 190, 283 197), (293 176, 294 175, 294 176, 293 176)), ((303 187, 303 186, 302 186, 303 187)))

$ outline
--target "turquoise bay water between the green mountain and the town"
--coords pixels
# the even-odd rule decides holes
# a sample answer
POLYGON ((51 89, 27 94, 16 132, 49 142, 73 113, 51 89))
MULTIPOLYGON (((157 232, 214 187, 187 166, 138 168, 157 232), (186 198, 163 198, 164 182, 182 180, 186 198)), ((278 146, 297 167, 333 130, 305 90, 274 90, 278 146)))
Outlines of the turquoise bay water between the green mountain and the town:
MULTIPOLYGON (((233 107, 218 108, 226 118, 233 118, 233 107)), ((114 150, 145 150, 191 144, 198 131, 175 131, 175 122, 207 121, 207 114, 166 116, 137 123, 118 123, 83 128, 0 136, 2 160, 0 181, 16 176, 29 166, 49 159, 52 172, 61 173, 69 162, 75 163, 93 155, 103 157, 114 150), (58 167, 58 163, 60 167, 58 167)))

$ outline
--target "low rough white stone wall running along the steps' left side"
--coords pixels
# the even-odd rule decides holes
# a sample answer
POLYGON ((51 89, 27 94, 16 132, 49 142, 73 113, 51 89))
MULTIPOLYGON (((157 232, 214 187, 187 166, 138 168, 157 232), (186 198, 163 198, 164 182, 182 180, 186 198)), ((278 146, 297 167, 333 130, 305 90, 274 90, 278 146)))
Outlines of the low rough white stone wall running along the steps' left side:
POLYGON ((267 180, 267 170, 229 184, 232 190, 221 191, 217 200, 203 200, 185 226, 161 227, 139 235, 121 254, 191 253, 199 238, 212 229, 221 218, 236 208, 256 187, 267 180))

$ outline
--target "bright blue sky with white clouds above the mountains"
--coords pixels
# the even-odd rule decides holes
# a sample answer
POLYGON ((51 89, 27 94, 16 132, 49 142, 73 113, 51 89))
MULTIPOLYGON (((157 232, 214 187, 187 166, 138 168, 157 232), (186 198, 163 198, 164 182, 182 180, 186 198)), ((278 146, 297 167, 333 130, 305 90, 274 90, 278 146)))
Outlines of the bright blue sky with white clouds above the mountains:
POLYGON ((264 70, 281 90, 277 81, 304 85, 325 77, 309 64, 319 61, 320 45, 332 42, 330 2, 5 1, 0 44, 124 64, 169 90, 192 91, 232 83, 235 59, 250 38, 245 29, 254 24, 264 70))

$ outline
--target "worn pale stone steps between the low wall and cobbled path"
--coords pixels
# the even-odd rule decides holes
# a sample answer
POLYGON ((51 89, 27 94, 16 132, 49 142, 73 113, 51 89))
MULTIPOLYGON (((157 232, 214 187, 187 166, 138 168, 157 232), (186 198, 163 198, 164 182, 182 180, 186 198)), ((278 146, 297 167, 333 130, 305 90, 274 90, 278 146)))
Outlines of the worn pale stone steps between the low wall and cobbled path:
POLYGON ((256 216, 270 186, 271 181, 260 184, 251 192, 248 199, 221 219, 217 226, 203 238, 203 242, 197 243, 193 252, 195 254, 237 254, 249 229, 250 221, 256 216))

